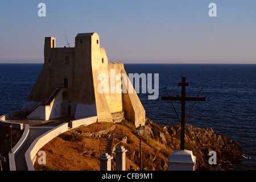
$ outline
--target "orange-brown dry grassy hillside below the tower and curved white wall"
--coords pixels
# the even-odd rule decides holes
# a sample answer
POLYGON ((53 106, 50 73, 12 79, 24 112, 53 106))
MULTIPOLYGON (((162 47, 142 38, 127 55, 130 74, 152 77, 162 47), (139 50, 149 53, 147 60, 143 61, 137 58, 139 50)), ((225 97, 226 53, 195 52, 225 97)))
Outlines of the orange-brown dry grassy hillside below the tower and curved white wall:
MULTIPOLYGON (((122 124, 115 124, 110 122, 94 123, 86 127, 79 127, 74 131, 67 131, 56 138, 53 138, 39 151, 46 152, 46 165, 38 164, 37 157, 34 167, 35 170, 63 170, 63 171, 93 171, 100 170, 100 160, 98 158, 104 153, 101 151, 101 138, 84 138, 77 137, 86 132, 95 132, 104 130, 107 127, 115 125, 112 133, 120 131, 127 135, 127 142, 123 143, 121 140, 117 147, 122 145, 128 151, 126 152, 126 169, 130 170, 139 168, 139 138, 136 135, 136 128, 129 122, 122 122, 122 124)), ((158 131, 154 130, 154 135, 158 135, 158 131)), ((159 129, 158 129, 159 130, 159 129)), ((142 138, 142 164, 144 169, 148 170, 165 170, 168 168, 167 160, 174 150, 173 146, 176 141, 174 138, 167 138, 167 144, 159 142, 159 137, 154 139, 147 137, 142 138)), ((113 159, 113 166, 115 166, 115 156, 113 159)))

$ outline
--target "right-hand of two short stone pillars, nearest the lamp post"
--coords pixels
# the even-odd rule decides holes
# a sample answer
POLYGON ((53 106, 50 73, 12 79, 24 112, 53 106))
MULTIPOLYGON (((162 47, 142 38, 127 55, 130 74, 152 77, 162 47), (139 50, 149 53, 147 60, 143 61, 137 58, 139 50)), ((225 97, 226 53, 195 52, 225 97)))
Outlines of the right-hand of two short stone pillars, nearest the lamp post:
POLYGON ((125 171, 125 152, 123 146, 119 146, 115 152, 115 171, 125 171))

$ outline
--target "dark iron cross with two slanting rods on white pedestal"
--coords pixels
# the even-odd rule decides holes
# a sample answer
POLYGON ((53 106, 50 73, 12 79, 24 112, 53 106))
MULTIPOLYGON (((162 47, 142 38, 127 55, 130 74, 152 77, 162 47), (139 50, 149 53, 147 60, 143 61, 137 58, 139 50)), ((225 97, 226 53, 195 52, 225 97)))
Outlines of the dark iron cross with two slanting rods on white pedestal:
MULTIPOLYGON (((186 86, 188 86, 188 83, 186 83, 186 77, 182 77, 182 82, 179 83, 179 86, 181 86, 181 97, 162 97, 162 100, 168 100, 168 101, 181 101, 181 136, 180 136, 180 150, 184 150, 184 141, 185 141, 185 122, 187 122, 188 118, 185 121, 185 101, 205 101, 205 97, 186 97, 186 86)), ((203 89, 203 88, 202 88, 203 89)), ((201 91, 202 91, 201 89, 201 91)), ((200 93, 201 93, 200 91, 200 93)), ((200 95, 199 93, 199 95, 200 95)), ((168 92, 167 92, 168 94, 168 92)), ((194 106, 195 106, 194 104, 194 106)), ((172 105, 174 106, 174 105, 172 105)), ((174 108, 175 109, 175 108, 174 108)), ((192 107, 193 109, 193 107, 192 107)), ((191 111, 192 111, 191 109, 191 111)), ((176 110, 175 110, 176 112, 176 110)), ((190 112, 191 113, 191 112, 190 112)), ((190 115, 189 113, 189 115, 190 115)), ((177 114, 177 113, 176 113, 177 114)), ((177 115, 179 118, 179 116, 177 115)), ((189 116, 188 116, 189 117, 189 116)))

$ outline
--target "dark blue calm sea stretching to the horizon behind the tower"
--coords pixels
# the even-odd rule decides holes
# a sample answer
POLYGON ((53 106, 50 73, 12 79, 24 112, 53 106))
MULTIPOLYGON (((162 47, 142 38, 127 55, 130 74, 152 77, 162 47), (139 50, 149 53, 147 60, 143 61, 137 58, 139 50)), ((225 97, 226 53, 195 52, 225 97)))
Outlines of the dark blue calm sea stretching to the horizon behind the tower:
MULTIPOLYGON (((19 110, 39 76, 43 64, 0 64, 0 113, 19 110)), ((189 83, 186 94, 208 97, 209 102, 196 102, 188 123, 197 127, 212 127, 241 144, 245 159, 234 164, 236 170, 256 169, 256 64, 125 64, 128 73, 159 74, 159 97, 148 100, 148 93, 138 93, 146 116, 158 124, 179 123, 167 96, 180 96, 181 74, 189 83)), ((142 84, 141 84, 142 85, 142 84)), ((194 102, 186 103, 186 118, 194 102)), ((180 103, 174 101, 180 114, 180 103)))

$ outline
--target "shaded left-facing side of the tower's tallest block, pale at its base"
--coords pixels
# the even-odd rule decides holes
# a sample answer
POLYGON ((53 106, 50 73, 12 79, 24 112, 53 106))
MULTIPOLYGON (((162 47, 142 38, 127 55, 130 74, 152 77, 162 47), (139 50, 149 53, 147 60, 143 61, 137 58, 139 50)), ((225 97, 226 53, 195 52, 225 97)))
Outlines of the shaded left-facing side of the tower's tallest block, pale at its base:
POLYGON ((92 35, 77 34, 75 40, 75 72, 73 95, 79 96, 76 119, 97 115, 92 72, 92 35))

